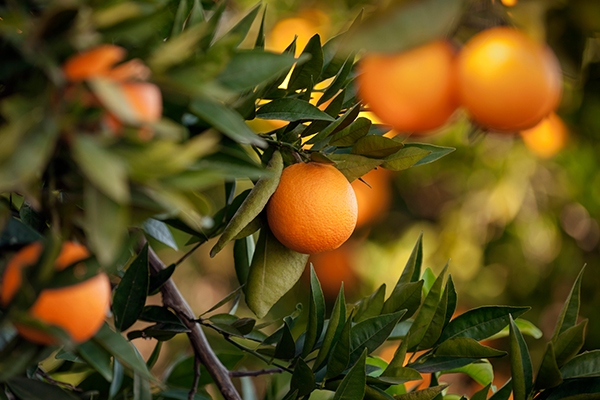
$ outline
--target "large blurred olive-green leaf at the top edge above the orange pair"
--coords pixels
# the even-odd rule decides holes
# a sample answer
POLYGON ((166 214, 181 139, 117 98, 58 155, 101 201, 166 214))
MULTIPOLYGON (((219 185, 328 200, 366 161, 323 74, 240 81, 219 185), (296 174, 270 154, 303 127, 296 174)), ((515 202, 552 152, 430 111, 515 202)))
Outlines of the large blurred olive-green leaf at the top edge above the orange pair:
POLYGON ((460 21, 462 0, 422 0, 391 3, 349 32, 344 50, 400 52, 452 32, 460 21))

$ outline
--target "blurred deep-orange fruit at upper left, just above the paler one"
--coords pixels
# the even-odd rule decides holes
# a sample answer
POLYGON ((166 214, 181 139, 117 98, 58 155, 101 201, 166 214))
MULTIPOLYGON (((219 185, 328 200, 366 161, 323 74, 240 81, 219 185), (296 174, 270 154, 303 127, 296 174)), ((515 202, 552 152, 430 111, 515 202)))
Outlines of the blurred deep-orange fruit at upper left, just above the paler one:
POLYGON ((125 53, 122 47, 103 44, 67 59, 63 72, 73 82, 106 75, 113 65, 125 58, 125 53))

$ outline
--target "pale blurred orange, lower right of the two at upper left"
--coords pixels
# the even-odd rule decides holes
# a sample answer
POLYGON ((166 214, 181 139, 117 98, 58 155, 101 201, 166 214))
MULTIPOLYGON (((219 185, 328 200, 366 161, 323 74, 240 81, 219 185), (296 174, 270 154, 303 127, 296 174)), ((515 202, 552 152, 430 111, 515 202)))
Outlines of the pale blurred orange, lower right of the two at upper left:
POLYGON ((152 123, 160 120, 162 96, 158 86, 147 82, 131 82, 123 83, 121 90, 138 121, 152 123))

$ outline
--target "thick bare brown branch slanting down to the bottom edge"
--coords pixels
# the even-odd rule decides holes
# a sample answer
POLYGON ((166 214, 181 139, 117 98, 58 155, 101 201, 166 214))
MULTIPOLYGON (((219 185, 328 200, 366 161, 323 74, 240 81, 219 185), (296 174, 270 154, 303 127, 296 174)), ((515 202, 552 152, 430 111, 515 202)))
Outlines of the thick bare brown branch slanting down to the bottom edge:
MULTIPOLYGON (((142 244, 145 243, 146 240, 142 239, 142 244)), ((150 246, 148 246, 148 258, 151 274, 157 274, 166 268, 165 264, 158 258, 150 246)), ((207 369, 225 400, 241 400, 239 393, 233 386, 233 382, 231 382, 229 371, 213 352, 200 325, 193 321, 195 318, 194 312, 181 295, 177 286, 175 286, 175 283, 173 283, 173 280, 169 279, 165 282, 161 286, 160 291, 163 297, 163 304, 173 309, 188 329, 190 329, 187 335, 194 348, 194 354, 207 369)))

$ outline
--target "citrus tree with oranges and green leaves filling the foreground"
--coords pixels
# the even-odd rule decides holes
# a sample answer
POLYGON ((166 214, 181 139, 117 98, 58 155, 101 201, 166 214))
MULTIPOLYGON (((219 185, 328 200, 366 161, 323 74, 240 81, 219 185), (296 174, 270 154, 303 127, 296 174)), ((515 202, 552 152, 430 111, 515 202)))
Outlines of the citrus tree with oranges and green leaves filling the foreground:
POLYGON ((489 24, 510 19, 478 1, 359 13, 325 43, 317 34, 297 49, 294 39, 282 53, 264 50, 265 7, 234 23, 230 11, 200 0, 0 9, 0 398, 251 399, 252 378, 273 375, 266 396, 277 399, 450 399, 441 382, 453 372, 484 386, 472 399, 597 396, 600 355, 577 355, 581 274, 535 376, 523 334, 538 330, 519 318, 528 308, 454 316, 449 268, 422 271, 421 238, 388 296, 381 286, 347 304, 341 285, 326 315, 309 267, 306 305, 269 314, 309 254, 352 234, 352 182, 453 150, 409 133, 451 124, 460 106, 477 129, 504 133, 551 115, 561 92, 551 51, 516 29, 485 30, 480 13, 489 24), (448 39, 473 30, 483 32, 457 55, 448 39), (490 56, 498 47, 504 58, 490 56), (478 73, 482 64, 497 74, 478 73), (363 116, 363 102, 387 125, 363 116), (246 123, 255 119, 284 123, 257 134, 246 123), (252 189, 239 192, 243 180, 252 189), (226 199, 217 212, 213 187, 226 199), (176 248, 173 232, 191 247, 165 265, 149 242, 176 248), (233 242, 240 286, 198 315, 170 278, 211 239, 213 256, 233 242), (146 306, 158 293, 161 305, 146 306), (213 313, 228 303, 230 312, 213 313), (256 318, 236 316, 244 304, 256 318), (130 329, 136 321, 151 325, 130 329), (227 350, 215 351, 205 330, 227 350), (162 343, 180 334, 193 354, 158 378, 162 343), (512 378, 497 388, 487 359, 507 353, 480 342, 502 336, 512 378), (148 359, 136 338, 158 341, 148 359), (389 363, 372 356, 394 340, 389 363), (238 368, 246 356, 263 368, 238 368), (83 379, 56 379, 66 371, 83 379), (407 385, 423 374, 429 387, 407 385))

